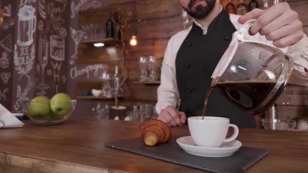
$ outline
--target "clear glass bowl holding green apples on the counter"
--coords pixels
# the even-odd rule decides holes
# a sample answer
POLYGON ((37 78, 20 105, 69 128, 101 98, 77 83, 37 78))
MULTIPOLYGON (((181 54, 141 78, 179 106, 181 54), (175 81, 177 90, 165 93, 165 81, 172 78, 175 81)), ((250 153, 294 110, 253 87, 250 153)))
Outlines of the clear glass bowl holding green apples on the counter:
POLYGON ((45 105, 42 102, 30 99, 21 101, 22 109, 26 116, 30 120, 40 124, 56 124, 65 121, 73 113, 77 101, 57 101, 54 103, 57 105, 54 108, 56 110, 55 112, 51 110, 49 104, 45 105))

